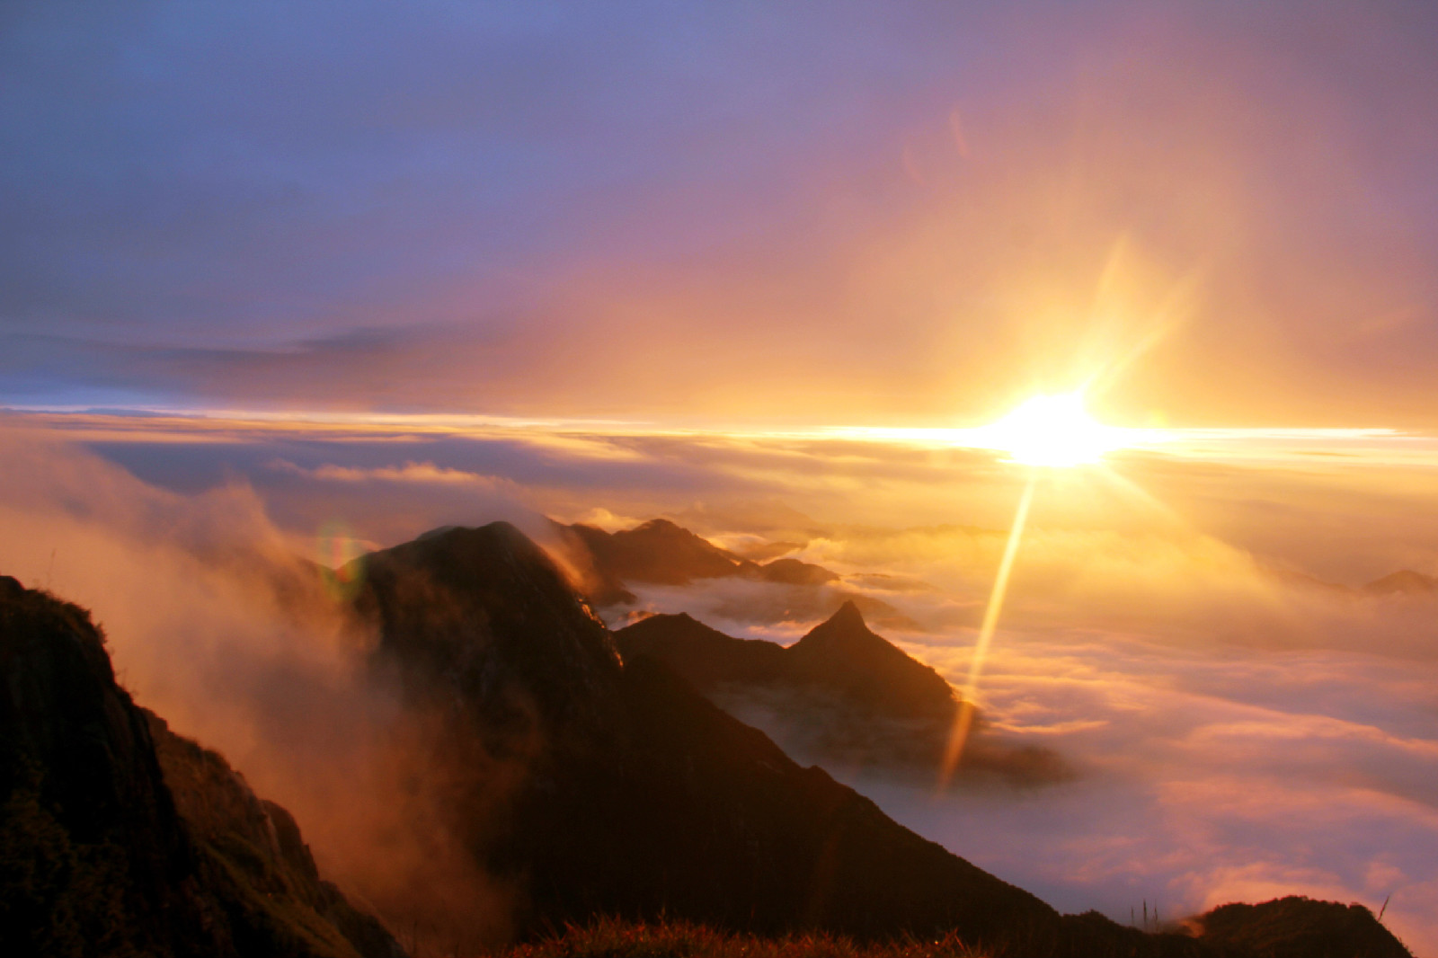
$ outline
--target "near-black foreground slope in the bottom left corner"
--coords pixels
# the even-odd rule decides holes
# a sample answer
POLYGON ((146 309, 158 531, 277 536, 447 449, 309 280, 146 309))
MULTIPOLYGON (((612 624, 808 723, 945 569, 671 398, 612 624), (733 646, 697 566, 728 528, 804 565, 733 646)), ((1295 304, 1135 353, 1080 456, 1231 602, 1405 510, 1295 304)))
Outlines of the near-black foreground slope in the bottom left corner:
POLYGON ((403 955, 288 813, 134 705, 89 613, 9 577, 0 797, 0 952, 403 955))

